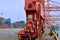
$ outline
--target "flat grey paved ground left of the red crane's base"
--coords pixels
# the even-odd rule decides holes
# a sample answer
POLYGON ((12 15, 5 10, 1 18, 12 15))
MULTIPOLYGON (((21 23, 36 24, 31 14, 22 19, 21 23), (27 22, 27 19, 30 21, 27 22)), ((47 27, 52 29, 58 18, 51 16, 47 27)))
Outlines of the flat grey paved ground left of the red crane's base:
POLYGON ((22 29, 0 29, 0 40, 18 40, 18 32, 22 29))

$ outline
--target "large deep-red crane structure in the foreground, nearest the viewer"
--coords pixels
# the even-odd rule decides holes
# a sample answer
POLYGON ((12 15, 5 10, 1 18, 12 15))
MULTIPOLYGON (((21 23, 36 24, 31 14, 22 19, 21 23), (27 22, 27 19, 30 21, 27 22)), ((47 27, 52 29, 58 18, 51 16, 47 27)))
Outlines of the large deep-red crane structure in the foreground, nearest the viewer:
POLYGON ((24 9, 26 28, 19 32, 19 40, 34 40, 35 38, 41 40, 44 25, 44 0, 25 0, 24 9))

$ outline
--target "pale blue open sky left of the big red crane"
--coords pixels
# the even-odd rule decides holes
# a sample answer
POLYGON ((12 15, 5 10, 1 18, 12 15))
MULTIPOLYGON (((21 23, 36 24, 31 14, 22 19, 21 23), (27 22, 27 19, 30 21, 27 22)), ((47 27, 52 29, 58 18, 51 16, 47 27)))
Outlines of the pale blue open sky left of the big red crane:
POLYGON ((0 0, 0 17, 16 22, 26 21, 25 16, 24 0, 0 0))

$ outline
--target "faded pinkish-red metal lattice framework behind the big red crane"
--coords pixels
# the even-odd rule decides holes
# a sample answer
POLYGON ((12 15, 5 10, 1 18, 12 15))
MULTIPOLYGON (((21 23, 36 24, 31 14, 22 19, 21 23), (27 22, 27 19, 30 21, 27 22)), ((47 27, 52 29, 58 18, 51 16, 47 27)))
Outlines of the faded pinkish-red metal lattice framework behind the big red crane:
POLYGON ((60 12, 60 3, 53 0, 45 0, 45 19, 48 20, 48 25, 51 25, 51 21, 60 21, 58 17, 59 15, 54 15, 54 13, 58 14, 60 12), (53 12, 53 14, 51 14, 53 12))

